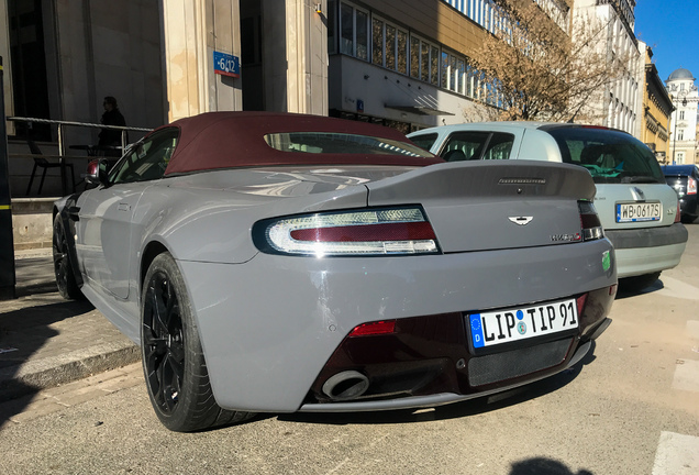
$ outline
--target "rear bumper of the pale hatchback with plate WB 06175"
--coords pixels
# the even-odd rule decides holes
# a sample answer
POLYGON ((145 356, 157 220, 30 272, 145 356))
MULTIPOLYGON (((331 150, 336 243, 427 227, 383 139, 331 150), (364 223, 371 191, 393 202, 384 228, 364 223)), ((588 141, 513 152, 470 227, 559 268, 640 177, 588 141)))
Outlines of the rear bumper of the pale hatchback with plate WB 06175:
POLYGON ((640 230, 604 230, 604 235, 614 246, 619 278, 677 266, 688 239, 681 223, 640 230))

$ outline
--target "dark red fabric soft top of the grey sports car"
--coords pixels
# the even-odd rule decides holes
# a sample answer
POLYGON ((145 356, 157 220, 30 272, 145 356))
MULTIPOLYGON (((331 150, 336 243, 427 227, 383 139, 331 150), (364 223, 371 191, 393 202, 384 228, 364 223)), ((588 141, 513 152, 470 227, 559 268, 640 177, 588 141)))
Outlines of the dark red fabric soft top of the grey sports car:
MULTIPOLYGON (((400 132, 365 122, 277 112, 207 112, 164 128, 179 129, 177 147, 165 175, 217 168, 269 165, 404 165, 443 163, 429 152, 396 154, 390 144, 414 145, 400 132), (308 153, 273 148, 265 135, 335 133, 387 140, 387 153, 308 153), (422 155, 422 156, 421 156, 422 155)), ((358 150, 358 148, 357 148, 358 150)))

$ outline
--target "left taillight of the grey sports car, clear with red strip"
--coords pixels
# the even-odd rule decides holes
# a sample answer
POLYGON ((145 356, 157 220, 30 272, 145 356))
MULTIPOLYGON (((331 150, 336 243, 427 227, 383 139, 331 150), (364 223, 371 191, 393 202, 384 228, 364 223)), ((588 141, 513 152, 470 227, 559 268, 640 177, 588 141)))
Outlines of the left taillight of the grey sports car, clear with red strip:
POLYGON ((420 208, 281 218, 256 224, 253 236, 264 252, 318 257, 440 252, 434 230, 420 208))

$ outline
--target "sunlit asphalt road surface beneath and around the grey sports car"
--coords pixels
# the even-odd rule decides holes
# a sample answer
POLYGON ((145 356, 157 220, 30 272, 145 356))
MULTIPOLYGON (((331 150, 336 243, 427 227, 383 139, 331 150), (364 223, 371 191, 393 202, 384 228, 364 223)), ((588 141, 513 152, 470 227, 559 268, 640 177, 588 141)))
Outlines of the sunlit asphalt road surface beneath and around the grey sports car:
POLYGON ((37 401, 5 421, 0 473, 697 475, 699 224, 688 229, 680 265, 618 297, 592 356, 504 399, 260 415, 179 434, 157 421, 132 365, 57 388, 44 396, 51 408, 37 401))

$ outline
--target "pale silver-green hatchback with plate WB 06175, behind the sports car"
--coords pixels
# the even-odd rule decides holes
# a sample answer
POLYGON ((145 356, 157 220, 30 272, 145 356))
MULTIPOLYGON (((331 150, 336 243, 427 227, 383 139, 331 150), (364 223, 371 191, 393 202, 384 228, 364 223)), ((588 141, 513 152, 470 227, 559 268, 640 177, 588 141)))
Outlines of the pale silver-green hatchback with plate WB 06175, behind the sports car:
POLYGON ((687 244, 677 194, 651 150, 601 126, 481 122, 413 132, 417 145, 447 162, 535 159, 580 165, 597 186, 595 207, 617 252, 622 288, 640 290, 678 263, 687 244))

